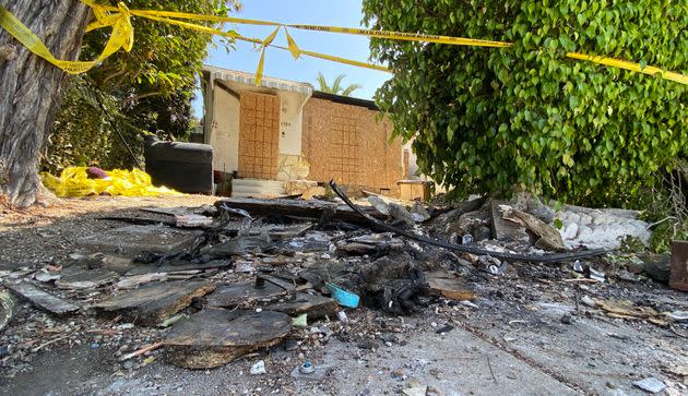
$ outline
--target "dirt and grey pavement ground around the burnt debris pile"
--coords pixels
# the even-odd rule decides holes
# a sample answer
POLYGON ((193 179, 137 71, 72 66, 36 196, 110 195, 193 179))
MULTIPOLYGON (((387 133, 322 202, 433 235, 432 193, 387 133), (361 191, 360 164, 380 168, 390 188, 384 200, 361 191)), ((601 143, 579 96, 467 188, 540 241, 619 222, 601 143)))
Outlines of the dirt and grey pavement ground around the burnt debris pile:
MULTIPOLYGON (((63 265, 78 238, 121 227, 103 217, 143 206, 213 204, 212 196, 96 197, 0 214, 0 279, 63 265)), ((600 263, 598 265, 603 265, 600 263)), ((359 308, 347 319, 295 329, 292 343, 213 370, 165 362, 164 348, 120 361, 166 329, 128 326, 91 312, 57 316, 26 301, 0 331, 4 395, 643 395, 654 377, 664 395, 688 395, 688 326, 612 317, 583 297, 627 300, 659 312, 688 311, 688 295, 640 277, 571 281, 571 263, 509 263, 505 275, 454 268, 473 303, 431 299, 420 313, 391 316, 359 308), (259 360, 265 374, 249 374, 259 360), (292 376, 304 361, 322 380, 292 376)), ((241 278, 239 271, 209 278, 241 278)), ((0 286, 2 288, 2 286, 0 286)), ((88 300, 90 296, 81 295, 88 300)), ((94 295, 94 299, 97 296, 94 295)))

